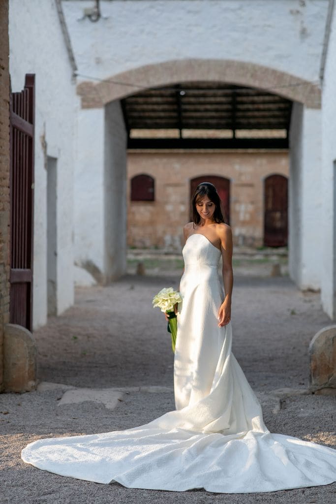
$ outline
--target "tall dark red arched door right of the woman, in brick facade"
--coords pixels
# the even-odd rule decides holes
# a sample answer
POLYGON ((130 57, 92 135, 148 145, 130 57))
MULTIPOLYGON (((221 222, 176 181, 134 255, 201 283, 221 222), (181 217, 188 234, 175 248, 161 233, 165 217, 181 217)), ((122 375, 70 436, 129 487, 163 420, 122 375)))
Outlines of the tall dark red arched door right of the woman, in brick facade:
POLYGON ((286 246, 288 242, 288 179, 270 175, 264 180, 264 245, 286 246))

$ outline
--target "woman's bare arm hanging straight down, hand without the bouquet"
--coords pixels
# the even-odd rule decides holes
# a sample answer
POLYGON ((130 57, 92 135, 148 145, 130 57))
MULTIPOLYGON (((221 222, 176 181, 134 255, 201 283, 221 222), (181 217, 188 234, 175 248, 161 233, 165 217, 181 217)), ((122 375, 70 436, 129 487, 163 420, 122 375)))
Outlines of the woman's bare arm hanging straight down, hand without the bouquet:
POLYGON ((221 238, 221 249, 223 258, 223 283, 225 290, 225 299, 218 311, 218 326, 222 327, 231 320, 231 299, 233 289, 233 270, 232 270, 232 231, 230 226, 219 226, 219 236, 221 238))

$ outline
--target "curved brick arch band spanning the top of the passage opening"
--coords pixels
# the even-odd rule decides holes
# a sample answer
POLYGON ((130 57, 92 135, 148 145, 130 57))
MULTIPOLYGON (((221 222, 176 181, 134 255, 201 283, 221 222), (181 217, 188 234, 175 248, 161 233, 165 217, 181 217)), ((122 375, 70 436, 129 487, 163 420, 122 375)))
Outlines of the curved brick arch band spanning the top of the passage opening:
POLYGON ((145 65, 110 76, 102 82, 81 82, 77 93, 82 98, 82 108, 100 108, 143 89, 194 81, 259 88, 308 108, 321 106, 321 92, 316 84, 273 68, 230 59, 175 59, 145 65))

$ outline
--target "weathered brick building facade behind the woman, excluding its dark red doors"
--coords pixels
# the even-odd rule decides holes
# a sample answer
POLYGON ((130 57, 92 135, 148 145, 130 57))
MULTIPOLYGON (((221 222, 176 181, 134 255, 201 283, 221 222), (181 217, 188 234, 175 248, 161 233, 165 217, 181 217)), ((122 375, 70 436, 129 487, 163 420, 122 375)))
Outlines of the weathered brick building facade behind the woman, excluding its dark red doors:
POLYGON ((127 242, 135 247, 180 249, 189 220, 190 179, 217 175, 230 180, 230 224, 236 245, 261 246, 264 179, 288 177, 283 151, 130 151, 127 162, 127 242), (146 173, 154 178, 154 201, 131 201, 130 181, 146 173))

